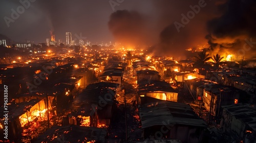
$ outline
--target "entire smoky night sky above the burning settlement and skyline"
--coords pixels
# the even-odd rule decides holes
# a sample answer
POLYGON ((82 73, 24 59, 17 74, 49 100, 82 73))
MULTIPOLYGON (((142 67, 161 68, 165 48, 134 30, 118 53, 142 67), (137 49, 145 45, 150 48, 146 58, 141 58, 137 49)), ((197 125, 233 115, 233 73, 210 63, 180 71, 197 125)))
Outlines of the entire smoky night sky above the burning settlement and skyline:
POLYGON ((62 42, 65 42, 66 32, 72 32, 73 38, 81 33, 93 43, 117 41, 126 47, 154 46, 158 54, 183 51, 189 47, 211 46, 215 52, 220 48, 239 49, 245 38, 256 35, 254 0, 36 0, 14 22, 10 22, 8 28, 4 17, 10 18, 11 9, 16 11, 20 5, 18 1, 0 1, 0 34, 17 42, 45 42, 50 38, 49 31, 54 30, 55 39, 62 42), (112 9, 110 3, 117 6, 112 9), (190 6, 199 3, 204 6, 177 30, 175 21, 182 23, 182 14, 187 15, 190 6))

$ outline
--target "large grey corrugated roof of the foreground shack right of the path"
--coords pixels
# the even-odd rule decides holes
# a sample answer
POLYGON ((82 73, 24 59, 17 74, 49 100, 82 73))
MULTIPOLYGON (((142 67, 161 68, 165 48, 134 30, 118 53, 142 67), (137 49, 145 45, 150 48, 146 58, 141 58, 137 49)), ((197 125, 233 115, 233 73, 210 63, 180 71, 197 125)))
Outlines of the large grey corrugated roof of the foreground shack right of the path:
POLYGON ((139 115, 142 129, 161 125, 207 126, 189 105, 178 102, 144 104, 139 108, 139 115))

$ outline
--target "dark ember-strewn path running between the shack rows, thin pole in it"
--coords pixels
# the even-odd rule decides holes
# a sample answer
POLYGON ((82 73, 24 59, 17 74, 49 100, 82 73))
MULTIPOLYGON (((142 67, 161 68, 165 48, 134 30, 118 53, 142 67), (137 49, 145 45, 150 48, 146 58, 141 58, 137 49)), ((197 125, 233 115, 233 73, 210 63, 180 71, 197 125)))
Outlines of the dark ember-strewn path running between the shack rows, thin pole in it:
POLYGON ((124 82, 125 94, 118 96, 117 101, 119 102, 116 111, 116 116, 112 124, 108 128, 109 139, 120 139, 125 141, 125 104, 124 98, 126 99, 126 121, 127 121, 127 140, 137 140, 141 137, 141 130, 139 129, 139 116, 138 109, 135 105, 136 100, 136 89, 132 83, 124 82))

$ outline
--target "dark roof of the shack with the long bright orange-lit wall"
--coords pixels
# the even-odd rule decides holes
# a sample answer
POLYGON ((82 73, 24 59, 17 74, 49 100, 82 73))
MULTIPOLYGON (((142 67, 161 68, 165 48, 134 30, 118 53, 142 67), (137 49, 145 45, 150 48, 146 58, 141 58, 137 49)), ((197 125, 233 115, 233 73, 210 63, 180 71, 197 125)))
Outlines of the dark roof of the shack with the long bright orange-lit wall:
POLYGON ((139 83, 138 92, 153 92, 153 91, 165 91, 165 92, 176 92, 177 91, 165 81, 155 80, 143 80, 139 83))

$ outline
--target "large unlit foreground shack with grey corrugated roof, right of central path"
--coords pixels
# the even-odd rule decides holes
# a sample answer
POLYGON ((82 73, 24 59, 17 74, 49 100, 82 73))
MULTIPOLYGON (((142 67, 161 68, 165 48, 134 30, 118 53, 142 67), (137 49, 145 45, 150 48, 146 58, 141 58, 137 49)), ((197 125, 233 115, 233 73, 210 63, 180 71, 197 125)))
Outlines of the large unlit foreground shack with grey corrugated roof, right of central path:
POLYGON ((183 103, 161 101, 139 108, 144 139, 179 139, 181 142, 201 142, 207 124, 183 103), (160 135, 160 136, 159 136, 160 135))

